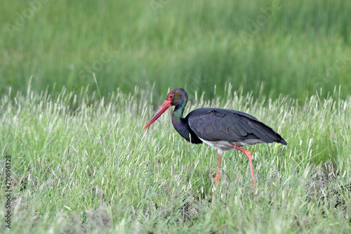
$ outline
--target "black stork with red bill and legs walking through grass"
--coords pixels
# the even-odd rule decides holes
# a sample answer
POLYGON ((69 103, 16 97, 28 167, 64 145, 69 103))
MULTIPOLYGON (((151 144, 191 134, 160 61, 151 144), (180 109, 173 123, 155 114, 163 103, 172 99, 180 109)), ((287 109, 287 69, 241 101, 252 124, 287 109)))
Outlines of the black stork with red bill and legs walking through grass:
POLYGON ((206 143, 218 150, 218 169, 214 179, 215 190, 213 190, 213 198, 220 178, 220 160, 225 151, 236 149, 244 152, 249 160, 253 186, 256 186, 253 175, 252 154, 249 150, 241 148, 241 146, 274 142, 286 145, 287 143, 282 136, 270 126, 260 122, 256 117, 238 110, 199 108, 192 110, 186 117, 183 117, 187 100, 188 96, 185 89, 172 89, 167 94, 164 104, 147 122, 144 129, 147 129, 168 108, 174 105, 172 124, 178 131, 178 134, 190 143, 206 143))

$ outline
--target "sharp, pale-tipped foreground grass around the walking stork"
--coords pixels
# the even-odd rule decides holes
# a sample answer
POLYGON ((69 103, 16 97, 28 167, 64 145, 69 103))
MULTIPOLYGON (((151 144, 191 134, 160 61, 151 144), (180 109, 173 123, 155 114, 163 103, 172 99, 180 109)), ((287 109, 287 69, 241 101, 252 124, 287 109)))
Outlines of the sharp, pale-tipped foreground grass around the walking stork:
POLYGON ((351 99, 336 89, 298 105, 223 89, 213 99, 193 93, 185 112, 249 112, 288 145, 248 147, 256 188, 246 157, 226 152, 213 202, 216 150, 185 142, 170 111, 143 131, 158 107, 151 91, 100 99, 85 89, 51 95, 29 86, 2 96, 0 163, 4 169, 11 155, 11 233, 350 233, 351 99))

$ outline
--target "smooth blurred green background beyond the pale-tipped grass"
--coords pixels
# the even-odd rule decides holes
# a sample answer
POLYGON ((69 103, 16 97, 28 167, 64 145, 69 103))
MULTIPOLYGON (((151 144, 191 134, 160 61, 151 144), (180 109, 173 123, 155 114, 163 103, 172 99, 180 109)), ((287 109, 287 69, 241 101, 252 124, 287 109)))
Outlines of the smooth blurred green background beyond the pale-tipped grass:
POLYGON ((351 1, 3 1, 0 93, 350 95, 351 1))

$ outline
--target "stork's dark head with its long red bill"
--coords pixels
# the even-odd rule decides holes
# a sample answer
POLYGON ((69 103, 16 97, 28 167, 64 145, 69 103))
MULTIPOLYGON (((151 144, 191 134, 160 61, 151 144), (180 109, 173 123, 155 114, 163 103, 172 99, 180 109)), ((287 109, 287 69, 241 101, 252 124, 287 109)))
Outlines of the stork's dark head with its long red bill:
POLYGON ((179 105, 187 103, 187 93, 182 88, 172 89, 169 91, 164 104, 157 110, 156 114, 150 119, 150 121, 144 126, 146 129, 150 126, 156 119, 158 119, 171 105, 179 105))

